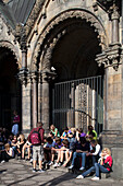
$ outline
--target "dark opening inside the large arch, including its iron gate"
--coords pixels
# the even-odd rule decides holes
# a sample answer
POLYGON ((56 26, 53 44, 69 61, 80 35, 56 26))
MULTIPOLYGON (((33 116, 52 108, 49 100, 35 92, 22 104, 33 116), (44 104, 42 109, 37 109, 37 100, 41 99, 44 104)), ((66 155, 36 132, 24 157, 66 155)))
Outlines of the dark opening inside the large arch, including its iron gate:
POLYGON ((61 27, 66 32, 59 37, 51 56, 57 73, 51 85, 53 95, 50 93, 51 120, 60 130, 67 126, 86 132, 87 125, 93 125, 99 132, 103 114, 97 109, 103 107, 103 69, 95 60, 101 53, 98 34, 81 19, 67 19, 61 27))

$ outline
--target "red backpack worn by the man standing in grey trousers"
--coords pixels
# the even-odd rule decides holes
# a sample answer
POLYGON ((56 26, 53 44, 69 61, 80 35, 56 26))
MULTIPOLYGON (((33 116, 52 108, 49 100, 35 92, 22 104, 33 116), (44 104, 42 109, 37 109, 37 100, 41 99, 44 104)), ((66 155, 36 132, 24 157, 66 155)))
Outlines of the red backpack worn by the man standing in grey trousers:
POLYGON ((41 143, 39 130, 38 131, 34 130, 33 133, 30 135, 30 142, 34 146, 41 143))

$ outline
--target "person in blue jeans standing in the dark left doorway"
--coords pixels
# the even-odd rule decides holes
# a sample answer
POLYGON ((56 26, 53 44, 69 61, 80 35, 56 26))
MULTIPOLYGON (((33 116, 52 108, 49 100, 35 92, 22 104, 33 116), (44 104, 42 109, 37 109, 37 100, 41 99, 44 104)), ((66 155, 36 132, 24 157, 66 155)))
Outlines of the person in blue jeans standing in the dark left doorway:
POLYGON ((17 115, 17 112, 13 112, 14 118, 13 118, 13 126, 12 126, 12 133, 17 135, 19 133, 19 124, 20 124, 20 116, 17 115))

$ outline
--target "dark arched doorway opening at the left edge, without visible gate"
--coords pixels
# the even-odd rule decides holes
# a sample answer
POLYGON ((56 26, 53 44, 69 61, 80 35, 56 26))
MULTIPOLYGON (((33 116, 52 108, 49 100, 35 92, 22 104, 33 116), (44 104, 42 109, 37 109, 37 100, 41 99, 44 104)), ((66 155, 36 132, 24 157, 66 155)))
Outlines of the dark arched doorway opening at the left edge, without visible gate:
POLYGON ((12 50, 0 47, 0 126, 11 130, 13 111, 21 115, 19 66, 12 50))

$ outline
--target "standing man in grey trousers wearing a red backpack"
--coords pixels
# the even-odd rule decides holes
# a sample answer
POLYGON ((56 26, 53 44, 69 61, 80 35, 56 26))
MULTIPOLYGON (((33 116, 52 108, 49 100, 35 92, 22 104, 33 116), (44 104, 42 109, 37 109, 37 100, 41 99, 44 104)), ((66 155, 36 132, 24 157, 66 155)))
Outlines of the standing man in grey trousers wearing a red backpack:
POLYGON ((42 173, 42 159, 44 159, 44 133, 42 123, 37 123, 37 128, 33 128, 28 141, 33 144, 33 172, 36 172, 37 156, 39 161, 38 172, 42 173))

